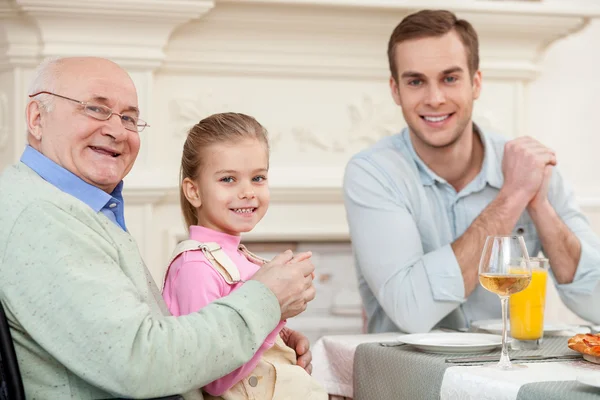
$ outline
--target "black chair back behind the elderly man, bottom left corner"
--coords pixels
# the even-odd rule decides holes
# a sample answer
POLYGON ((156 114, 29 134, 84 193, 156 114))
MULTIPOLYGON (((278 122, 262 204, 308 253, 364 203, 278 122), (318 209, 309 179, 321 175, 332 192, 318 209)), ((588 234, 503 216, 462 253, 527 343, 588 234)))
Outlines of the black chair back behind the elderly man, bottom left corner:
POLYGON ((21 371, 17 363, 8 319, 0 302, 0 400, 25 400, 21 371))

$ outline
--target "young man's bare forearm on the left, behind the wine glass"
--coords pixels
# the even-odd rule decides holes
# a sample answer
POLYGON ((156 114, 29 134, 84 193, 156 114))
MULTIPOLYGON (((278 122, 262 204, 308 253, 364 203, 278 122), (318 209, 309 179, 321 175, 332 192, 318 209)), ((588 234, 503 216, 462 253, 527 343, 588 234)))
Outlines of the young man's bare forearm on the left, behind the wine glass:
POLYGON ((526 206, 525 199, 501 192, 465 233, 452 243, 465 284, 465 297, 477 287, 479 260, 485 239, 490 235, 510 234, 526 206))

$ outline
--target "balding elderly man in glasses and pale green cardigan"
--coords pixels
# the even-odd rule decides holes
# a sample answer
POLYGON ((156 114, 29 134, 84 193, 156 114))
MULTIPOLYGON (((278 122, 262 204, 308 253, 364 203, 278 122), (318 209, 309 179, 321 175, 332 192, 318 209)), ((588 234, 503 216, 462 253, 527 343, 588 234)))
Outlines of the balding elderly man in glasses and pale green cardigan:
MULTIPOLYGON (((201 398, 314 298, 313 265, 284 265, 288 251, 232 295, 167 316, 123 218, 146 126, 131 78, 105 59, 59 59, 30 98, 29 146, 0 177, 0 300, 28 398, 201 398)), ((310 371, 306 338, 282 336, 310 371)))

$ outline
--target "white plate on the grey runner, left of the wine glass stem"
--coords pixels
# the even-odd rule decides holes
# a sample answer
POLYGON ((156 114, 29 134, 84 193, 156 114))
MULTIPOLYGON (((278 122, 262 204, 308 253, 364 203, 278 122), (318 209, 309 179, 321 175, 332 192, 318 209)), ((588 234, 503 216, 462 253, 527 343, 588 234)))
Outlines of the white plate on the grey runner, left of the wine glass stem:
POLYGON ((484 353, 502 345, 502 337, 487 333, 415 333, 401 335, 398 341, 429 353, 484 353))

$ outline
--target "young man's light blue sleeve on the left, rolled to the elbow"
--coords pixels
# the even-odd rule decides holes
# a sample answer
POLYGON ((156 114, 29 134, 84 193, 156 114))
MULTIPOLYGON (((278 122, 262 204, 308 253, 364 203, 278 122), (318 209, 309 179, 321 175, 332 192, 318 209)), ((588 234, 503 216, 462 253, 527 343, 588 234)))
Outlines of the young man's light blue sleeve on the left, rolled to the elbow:
POLYGON ((464 302, 450 244, 424 253, 414 210, 383 170, 368 159, 353 159, 346 167, 344 202, 358 267, 401 331, 427 332, 464 302))

